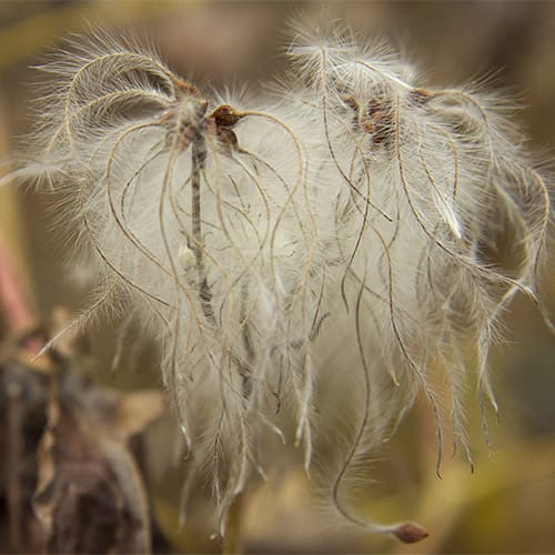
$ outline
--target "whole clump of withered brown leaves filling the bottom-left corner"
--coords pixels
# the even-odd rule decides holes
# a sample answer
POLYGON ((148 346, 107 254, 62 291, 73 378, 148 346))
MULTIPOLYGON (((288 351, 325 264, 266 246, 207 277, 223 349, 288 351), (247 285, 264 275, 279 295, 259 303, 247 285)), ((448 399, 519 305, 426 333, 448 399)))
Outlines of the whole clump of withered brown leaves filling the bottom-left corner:
POLYGON ((27 366, 19 343, 4 342, 0 361, 0 496, 10 536, 0 547, 149 552, 151 516, 130 440, 162 414, 162 394, 84 383, 69 343, 64 355, 27 366))

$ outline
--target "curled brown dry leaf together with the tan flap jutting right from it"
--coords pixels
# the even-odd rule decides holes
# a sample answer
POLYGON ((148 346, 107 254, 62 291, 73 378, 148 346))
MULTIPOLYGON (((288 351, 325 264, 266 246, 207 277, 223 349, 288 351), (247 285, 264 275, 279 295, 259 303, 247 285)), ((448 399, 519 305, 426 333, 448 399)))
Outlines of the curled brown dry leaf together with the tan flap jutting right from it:
POLYGON ((161 395, 82 387, 68 394, 71 381, 63 371, 51 375, 48 422, 38 450, 33 505, 47 548, 147 553, 147 493, 127 440, 160 416, 161 395))

